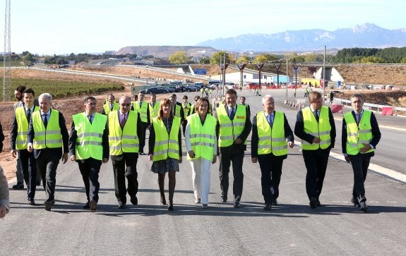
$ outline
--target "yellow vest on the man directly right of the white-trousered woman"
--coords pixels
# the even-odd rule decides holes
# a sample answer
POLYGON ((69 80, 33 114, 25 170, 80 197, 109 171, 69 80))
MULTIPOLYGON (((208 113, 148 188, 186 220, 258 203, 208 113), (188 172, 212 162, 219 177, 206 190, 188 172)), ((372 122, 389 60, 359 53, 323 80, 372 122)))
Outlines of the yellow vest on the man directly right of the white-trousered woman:
MULTIPOLYGON (((237 106, 234 120, 231 121, 227 114, 225 106, 217 107, 217 119, 220 124, 220 133, 218 138, 219 147, 228 147, 234 143, 234 140, 241 135, 246 121, 246 108, 237 106)), ((244 141, 246 145, 246 140, 244 141)))

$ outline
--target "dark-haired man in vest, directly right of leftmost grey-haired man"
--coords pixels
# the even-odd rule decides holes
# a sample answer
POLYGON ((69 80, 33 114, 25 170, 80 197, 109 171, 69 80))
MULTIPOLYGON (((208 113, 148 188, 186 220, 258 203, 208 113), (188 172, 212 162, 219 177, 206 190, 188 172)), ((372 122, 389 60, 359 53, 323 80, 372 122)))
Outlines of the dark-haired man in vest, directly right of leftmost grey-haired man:
POLYGON ((107 116, 96 113, 95 97, 85 97, 83 108, 84 112, 72 116, 69 153, 71 161, 78 162, 85 183, 88 202, 83 209, 96 212, 99 201, 100 166, 109 161, 107 116))

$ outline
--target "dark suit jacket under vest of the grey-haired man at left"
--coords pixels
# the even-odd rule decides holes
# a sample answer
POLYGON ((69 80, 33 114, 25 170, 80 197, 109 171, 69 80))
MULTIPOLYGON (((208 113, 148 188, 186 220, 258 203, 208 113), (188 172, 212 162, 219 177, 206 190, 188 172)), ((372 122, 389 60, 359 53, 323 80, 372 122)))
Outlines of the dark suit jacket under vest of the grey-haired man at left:
MULTIPOLYGON (((51 109, 52 111, 52 109, 51 109)), ((64 149, 63 153, 68 153, 68 140, 69 140, 69 134, 68 134, 68 129, 66 128, 66 122, 64 115, 62 115, 61 112, 59 112, 59 128, 61 128, 61 135, 62 135, 62 147, 64 149)), ((32 143, 34 141, 35 137, 35 132, 34 132, 34 126, 32 126, 32 118, 30 119, 30 126, 28 128, 28 136, 27 136, 27 142, 32 143)), ((43 150, 34 150, 34 157, 37 159, 40 157, 40 154, 42 152, 44 154, 56 154, 58 158, 62 157, 62 147, 56 147, 56 148, 45 148, 43 150)))

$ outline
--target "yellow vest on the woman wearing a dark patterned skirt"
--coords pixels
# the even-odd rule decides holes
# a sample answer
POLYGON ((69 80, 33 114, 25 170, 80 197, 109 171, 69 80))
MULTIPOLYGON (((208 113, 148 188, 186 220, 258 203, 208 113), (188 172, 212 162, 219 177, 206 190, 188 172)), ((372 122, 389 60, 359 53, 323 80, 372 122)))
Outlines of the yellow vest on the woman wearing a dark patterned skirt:
POLYGON ((165 123, 153 118, 153 127, 155 131, 155 145, 153 152, 153 161, 167 159, 179 159, 179 141, 178 135, 181 127, 181 118, 174 116, 170 133, 167 133, 165 123))

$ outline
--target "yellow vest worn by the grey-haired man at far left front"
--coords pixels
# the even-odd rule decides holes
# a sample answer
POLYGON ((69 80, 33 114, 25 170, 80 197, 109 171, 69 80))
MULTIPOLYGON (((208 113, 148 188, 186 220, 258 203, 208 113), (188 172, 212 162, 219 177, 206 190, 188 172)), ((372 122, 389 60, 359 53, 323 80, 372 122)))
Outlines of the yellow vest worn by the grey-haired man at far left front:
POLYGON ((44 148, 62 147, 61 128, 59 128, 59 112, 52 109, 47 128, 42 122, 41 111, 32 113, 32 127, 34 128, 34 140, 32 145, 35 150, 44 148))

